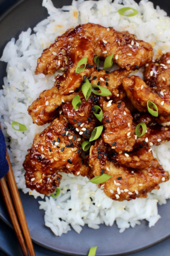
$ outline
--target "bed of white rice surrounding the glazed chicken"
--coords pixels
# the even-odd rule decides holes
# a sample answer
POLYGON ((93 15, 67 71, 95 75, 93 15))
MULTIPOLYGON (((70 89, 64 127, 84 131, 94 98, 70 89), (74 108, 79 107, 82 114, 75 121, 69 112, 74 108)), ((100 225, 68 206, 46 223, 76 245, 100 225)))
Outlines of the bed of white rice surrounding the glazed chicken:
MULTIPOLYGON (((12 38, 0 59, 8 63, 7 77, 4 78, 3 90, 0 90, 0 123, 7 138, 6 143, 10 144, 10 159, 18 188, 43 199, 43 195, 26 188, 22 167, 35 133, 47 126, 33 124, 27 107, 41 91, 52 87, 57 74, 34 75, 36 59, 43 48, 47 48, 71 26, 94 22, 119 31, 127 29, 139 39, 155 45, 155 54, 160 49, 164 53, 170 51, 170 18, 165 11, 159 7, 155 10, 151 2, 144 0, 139 5, 134 0, 114 0, 114 3, 109 0, 73 0, 71 6, 63 6, 62 9, 56 9, 51 0, 43 0, 42 5, 47 8, 49 16, 37 24, 33 33, 28 29, 21 33, 18 40, 12 38), (122 3, 135 8, 139 14, 134 17, 120 16, 118 9, 122 8, 122 3), (12 121, 25 124, 27 131, 14 130, 12 121)), ((142 77, 140 70, 136 74, 142 77)), ((162 143, 153 150, 164 169, 170 171, 170 143, 162 143)), ((157 204, 166 203, 166 199, 170 198, 170 181, 160 184, 160 189, 153 190, 147 198, 129 202, 111 200, 86 177, 63 174, 60 188, 61 193, 57 198, 45 197, 44 201, 39 201, 40 209, 45 211, 46 226, 59 236, 67 233, 71 227, 80 233, 85 224, 98 229, 99 224, 112 226, 116 222, 120 232, 123 232, 146 219, 151 227, 160 219, 157 204)))

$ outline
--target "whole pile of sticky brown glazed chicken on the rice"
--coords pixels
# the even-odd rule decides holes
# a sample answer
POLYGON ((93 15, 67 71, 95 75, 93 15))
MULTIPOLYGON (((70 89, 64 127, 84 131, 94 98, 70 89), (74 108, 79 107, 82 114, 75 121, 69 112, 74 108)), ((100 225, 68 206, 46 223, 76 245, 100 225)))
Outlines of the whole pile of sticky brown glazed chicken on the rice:
POLYGON ((168 181, 169 173, 150 147, 170 140, 170 127, 160 124, 170 120, 169 56, 151 62, 149 43, 129 32, 93 23, 57 37, 37 60, 36 74, 50 75, 61 69, 63 75, 57 75, 51 89, 28 107, 33 123, 52 123, 35 136, 28 149, 23 164, 26 186, 50 195, 59 187, 62 172, 89 179, 104 173, 111 177, 98 187, 113 200, 123 201, 147 197, 168 181), (111 54, 119 69, 98 68, 94 57, 104 60, 111 54), (87 64, 78 64, 83 58, 87 64), (138 76, 128 77, 144 65, 146 83, 138 76), (82 70, 77 72, 77 68, 82 70), (87 81, 92 91, 89 97, 82 89, 87 81), (79 96, 78 108, 72 103, 75 96, 79 96), (148 100, 158 107, 158 117, 149 114, 148 100), (139 137, 135 129, 141 122, 146 131, 139 137), (96 133, 98 126, 100 134, 96 133), (90 149, 83 152, 82 143, 89 140, 90 149))

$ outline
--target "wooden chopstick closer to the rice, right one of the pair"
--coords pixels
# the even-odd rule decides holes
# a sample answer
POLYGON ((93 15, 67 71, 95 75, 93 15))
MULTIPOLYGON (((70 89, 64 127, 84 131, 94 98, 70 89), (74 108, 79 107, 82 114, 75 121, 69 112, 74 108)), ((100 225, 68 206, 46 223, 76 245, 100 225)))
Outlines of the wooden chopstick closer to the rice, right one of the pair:
MULTIPOLYGON (((1 127, 0 127, 0 129, 1 129, 1 127)), ((23 210, 23 207, 22 207, 21 198, 20 198, 20 195, 19 195, 19 192, 18 192, 18 188, 16 186, 15 176, 14 176, 14 173, 13 173, 13 170, 12 170, 12 165, 10 163, 10 157, 8 155, 8 151, 7 150, 6 150, 6 159, 7 159, 8 164, 9 164, 9 171, 6 174, 6 179, 7 179, 8 186, 9 186, 9 189, 10 189, 10 193, 11 193, 11 196, 12 196, 12 200, 13 200, 13 203, 14 203, 14 206, 15 206, 15 210, 16 210, 16 213, 17 213, 20 225, 21 225, 22 233, 24 235, 24 238, 25 238, 26 245, 27 245, 28 251, 30 253, 30 256, 36 256, 34 248, 33 248, 33 245, 32 245, 32 240, 31 240, 31 235, 30 235, 29 229, 28 229, 28 225, 26 223, 26 216, 24 214, 24 210, 23 210)), ((6 191, 5 190, 5 182, 4 182, 5 179, 2 178, 1 180, 0 180, 1 190, 2 191, 6 191)), ((7 200, 6 202, 8 203, 9 197, 8 198, 4 197, 4 199, 7 200)), ((7 208, 7 209, 8 209, 8 212, 10 214, 11 208, 10 209, 7 208)), ((14 228, 15 227, 16 226, 14 226, 14 228)), ((16 230, 15 230, 15 232, 16 232, 16 230)), ((17 229, 17 232, 19 232, 18 229, 17 229)), ((17 233, 17 234, 19 234, 19 233, 17 233)), ((17 235, 17 238, 20 239, 20 236, 17 235)), ((22 243, 22 241, 23 240, 21 239, 21 243, 22 243)), ((22 247, 21 247, 21 249, 22 249, 22 247)), ((24 254, 24 255, 27 256, 28 252, 27 252, 27 254, 24 254)))

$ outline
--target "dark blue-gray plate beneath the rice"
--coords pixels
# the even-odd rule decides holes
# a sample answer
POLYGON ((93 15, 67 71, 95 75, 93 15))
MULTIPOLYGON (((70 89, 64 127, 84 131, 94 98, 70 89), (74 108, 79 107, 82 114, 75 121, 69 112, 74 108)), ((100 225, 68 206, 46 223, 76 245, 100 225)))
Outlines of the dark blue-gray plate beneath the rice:
MULTIPOLYGON (((70 4, 71 0, 53 0, 53 3, 61 7, 70 4)), ((154 1, 154 3, 159 3, 166 11, 170 10, 168 0, 154 1)), ((46 15, 46 10, 41 7, 41 0, 21 0, 2 16, 0 19, 0 56, 5 43, 11 37, 17 37, 22 30, 34 27, 46 15)), ((0 63, 0 84, 4 76, 5 64, 0 63)), ((170 236, 170 201, 159 207, 162 218, 152 228, 148 227, 146 221, 142 221, 141 225, 134 229, 129 228, 120 234, 116 225, 113 227, 101 225, 98 230, 85 226, 80 235, 72 230, 66 235, 56 237, 44 225, 44 212, 38 209, 38 200, 22 192, 20 195, 32 239, 41 246, 68 255, 88 255, 89 248, 95 245, 98 245, 98 256, 124 255, 147 248, 170 236)), ((0 217, 10 224, 2 199, 0 199, 0 217)))

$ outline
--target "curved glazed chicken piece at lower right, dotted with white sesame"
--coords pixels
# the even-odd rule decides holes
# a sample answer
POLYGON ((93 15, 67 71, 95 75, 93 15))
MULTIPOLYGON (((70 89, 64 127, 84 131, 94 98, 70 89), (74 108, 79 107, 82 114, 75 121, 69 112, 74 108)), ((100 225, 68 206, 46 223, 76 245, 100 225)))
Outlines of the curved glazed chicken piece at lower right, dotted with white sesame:
POLYGON ((143 170, 136 170, 125 167, 113 160, 109 161, 104 153, 107 150, 107 144, 102 139, 98 139, 90 149, 89 164, 93 168, 93 175, 98 176, 101 173, 112 176, 108 181, 98 185, 105 194, 113 200, 124 201, 135 199, 136 197, 147 197, 147 193, 153 189, 159 189, 159 184, 168 181, 169 173, 164 171, 156 159, 152 160, 149 167, 143 170), (100 156, 98 158, 98 147, 100 146, 100 156))

